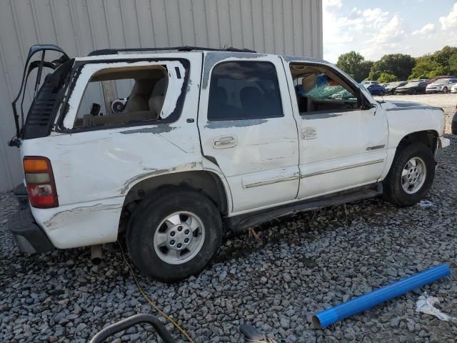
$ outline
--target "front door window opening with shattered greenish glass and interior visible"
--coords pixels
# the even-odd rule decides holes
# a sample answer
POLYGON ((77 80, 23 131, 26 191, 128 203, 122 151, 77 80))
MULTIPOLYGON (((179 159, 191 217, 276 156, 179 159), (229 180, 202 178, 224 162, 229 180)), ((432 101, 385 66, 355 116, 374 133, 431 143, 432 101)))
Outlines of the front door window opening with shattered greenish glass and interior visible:
POLYGON ((325 66, 291 64, 301 115, 360 108, 358 91, 325 66))

